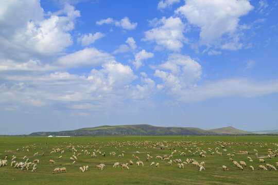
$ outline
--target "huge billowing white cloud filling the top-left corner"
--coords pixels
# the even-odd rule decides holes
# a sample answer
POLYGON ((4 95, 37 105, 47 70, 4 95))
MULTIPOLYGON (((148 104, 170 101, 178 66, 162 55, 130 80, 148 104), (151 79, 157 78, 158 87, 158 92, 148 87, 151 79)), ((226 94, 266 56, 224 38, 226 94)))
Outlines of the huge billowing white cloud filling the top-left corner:
POLYGON ((0 2, 0 57, 15 62, 53 57, 72 45, 69 31, 80 12, 65 5, 44 14, 39 1, 0 2), (16 54, 13 54, 16 53, 16 54))

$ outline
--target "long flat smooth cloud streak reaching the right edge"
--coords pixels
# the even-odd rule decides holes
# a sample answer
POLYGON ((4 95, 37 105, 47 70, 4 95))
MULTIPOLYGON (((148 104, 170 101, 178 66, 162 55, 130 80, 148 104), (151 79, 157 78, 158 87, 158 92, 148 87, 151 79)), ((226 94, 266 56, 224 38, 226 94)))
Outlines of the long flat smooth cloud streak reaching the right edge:
POLYGON ((184 102, 197 102, 210 98, 252 98, 278 92, 278 81, 252 82, 248 79, 224 79, 206 82, 191 89, 179 91, 176 98, 184 102))

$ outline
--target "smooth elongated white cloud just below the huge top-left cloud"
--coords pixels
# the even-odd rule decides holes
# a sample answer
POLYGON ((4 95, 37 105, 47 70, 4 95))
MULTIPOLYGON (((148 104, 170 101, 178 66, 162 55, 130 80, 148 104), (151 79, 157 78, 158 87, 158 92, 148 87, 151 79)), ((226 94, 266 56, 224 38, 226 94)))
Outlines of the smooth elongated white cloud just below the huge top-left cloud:
POLYGON ((58 59, 62 67, 96 67, 113 61, 114 57, 95 48, 85 48, 74 53, 66 54, 58 59))

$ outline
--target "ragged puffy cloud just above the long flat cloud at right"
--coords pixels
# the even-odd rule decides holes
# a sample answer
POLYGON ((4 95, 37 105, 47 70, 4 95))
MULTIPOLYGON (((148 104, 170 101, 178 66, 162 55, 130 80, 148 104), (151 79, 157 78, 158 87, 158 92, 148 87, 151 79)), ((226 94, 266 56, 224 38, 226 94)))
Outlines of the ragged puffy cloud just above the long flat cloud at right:
POLYGON ((156 69, 154 76, 162 79, 161 85, 167 88, 169 94, 194 87, 202 75, 200 64, 182 54, 170 54, 168 61, 151 68, 156 69))

